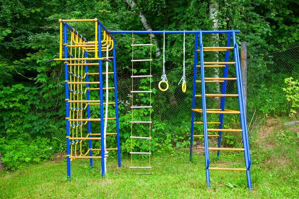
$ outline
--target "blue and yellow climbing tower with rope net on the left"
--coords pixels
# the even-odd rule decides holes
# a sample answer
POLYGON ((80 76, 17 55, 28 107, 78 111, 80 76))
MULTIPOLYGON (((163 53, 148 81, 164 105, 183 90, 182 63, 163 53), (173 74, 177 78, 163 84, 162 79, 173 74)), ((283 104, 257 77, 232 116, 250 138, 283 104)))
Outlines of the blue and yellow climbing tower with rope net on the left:
MULTIPOLYGON (((108 150, 117 150, 118 166, 121 166, 115 39, 108 33, 107 29, 97 18, 81 20, 59 19, 59 22, 59 59, 52 59, 49 61, 64 61, 67 178, 71 178, 70 162, 74 159, 89 159, 90 167, 93 167, 93 159, 101 159, 101 174, 104 176, 106 172, 105 159, 108 156, 108 150), (94 41, 85 39, 73 27, 67 24, 67 22, 94 22, 94 41), (70 31, 70 36, 68 35, 68 30, 70 31), (108 56, 103 58, 102 51, 108 51, 108 53, 112 51, 112 57, 108 56), (62 58, 63 54, 64 58, 62 58), (113 72, 107 70, 104 72, 102 69, 103 62, 112 62, 113 72), (95 69, 94 67, 97 67, 98 69, 95 69), (113 74, 114 78, 114 87, 103 88, 103 76, 111 74, 113 74), (97 75, 99 77, 99 82, 89 82, 90 76, 97 75), (99 87, 97 87, 97 85, 99 85, 99 87), (114 90, 114 102, 104 102, 103 90, 114 90), (93 91, 99 91, 99 100, 90 100, 90 94, 93 91), (108 106, 112 104, 115 104, 115 117, 106 116, 106 118, 116 120, 116 132, 106 133, 106 131, 104 131, 104 120, 106 119, 104 118, 104 105, 108 106), (91 105, 99 105, 100 118, 91 118, 91 105), (92 130, 91 122, 95 123, 95 125, 93 125, 94 128, 97 124, 100 126, 100 132, 94 132, 96 131, 96 128, 94 131, 92 130), (86 124, 87 130, 84 128, 84 125, 86 124), (106 148, 106 135, 117 136, 117 148, 106 148), (84 140, 88 140, 89 149, 87 152, 82 153, 82 143, 84 140), (92 140, 101 140, 101 148, 93 148, 92 140), (79 149, 80 153, 78 152, 79 149), (92 151, 101 151, 101 156, 94 156, 92 151)), ((108 100, 108 98, 109 96, 106 95, 106 100, 108 100)), ((106 113, 108 114, 108 112, 106 113)))

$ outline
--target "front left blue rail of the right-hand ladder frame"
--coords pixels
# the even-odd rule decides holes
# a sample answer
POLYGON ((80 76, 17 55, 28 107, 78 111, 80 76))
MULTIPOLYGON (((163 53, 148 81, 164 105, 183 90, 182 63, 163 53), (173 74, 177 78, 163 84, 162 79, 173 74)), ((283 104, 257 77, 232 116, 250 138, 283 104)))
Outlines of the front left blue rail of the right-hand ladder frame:
POLYGON ((206 170, 207 186, 210 187, 208 123, 207 123, 207 112, 206 112, 204 64, 203 64, 204 59, 203 59, 203 43, 202 43, 202 33, 201 32, 199 32, 199 45, 200 45, 200 79, 201 79, 201 101, 202 101, 202 123, 203 123, 205 170, 206 170))

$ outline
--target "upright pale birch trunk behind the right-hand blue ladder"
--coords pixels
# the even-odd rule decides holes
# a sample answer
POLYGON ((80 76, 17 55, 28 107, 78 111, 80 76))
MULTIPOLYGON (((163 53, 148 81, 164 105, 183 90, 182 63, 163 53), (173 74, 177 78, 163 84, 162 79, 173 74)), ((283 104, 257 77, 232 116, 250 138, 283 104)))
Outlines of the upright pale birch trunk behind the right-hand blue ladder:
MULTIPOLYGON (((217 2, 217 0, 211 0, 210 5, 209 5, 209 15, 210 15, 210 19, 211 21, 213 21, 213 30, 217 30, 218 29, 218 18, 217 18, 217 14, 218 14, 218 8, 219 8, 219 4, 217 2)), ((213 47, 219 46, 219 34, 211 34, 211 43, 213 47)), ((215 52, 214 53, 214 57, 213 57, 213 61, 214 62, 218 62, 219 61, 219 53, 215 52)), ((215 73, 214 73, 214 78, 219 78, 219 68, 215 67, 215 73)), ((220 93, 220 84, 217 84, 217 89, 216 92, 220 93)), ((220 98, 216 97, 216 102, 217 105, 220 105, 220 98)))

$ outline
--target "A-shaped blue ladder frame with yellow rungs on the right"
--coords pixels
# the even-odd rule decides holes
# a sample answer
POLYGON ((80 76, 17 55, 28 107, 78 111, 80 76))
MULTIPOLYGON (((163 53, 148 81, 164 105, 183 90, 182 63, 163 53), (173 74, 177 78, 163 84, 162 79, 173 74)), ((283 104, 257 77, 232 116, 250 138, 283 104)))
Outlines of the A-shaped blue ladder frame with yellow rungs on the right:
POLYGON ((239 51, 238 44, 236 43, 235 33, 237 31, 198 31, 195 33, 195 48, 194 48, 194 72, 193 72, 193 94, 192 94, 192 114, 191 114, 191 139, 190 139, 190 160, 192 158, 193 149, 203 149, 205 156, 205 170, 206 170, 206 182, 207 186, 210 187, 210 170, 223 170, 223 171, 245 171, 247 176, 247 184, 249 190, 251 187, 251 178, 250 178, 250 152, 249 152, 249 141, 248 141, 248 131, 247 131, 247 122, 246 122, 246 112, 243 98, 243 89, 242 89, 242 80, 241 80, 241 70, 240 70, 240 60, 239 60, 239 51), (226 33, 227 36, 227 46, 226 47, 205 47, 202 42, 203 33, 226 33), (231 35, 232 43, 231 44, 231 35), (198 43, 199 36, 199 43, 198 43), (199 49, 198 49, 199 44, 199 49), (229 61, 229 51, 233 51, 234 61, 229 61), (204 61, 204 52, 206 51, 225 51, 224 62, 205 62, 204 61), (200 65, 197 65, 197 57, 199 52, 200 65), (228 77, 228 67, 235 65, 235 75, 236 77, 228 77), (196 68, 200 68, 200 80, 197 80, 196 68), (207 78, 205 77, 205 68, 213 67, 222 67, 223 68, 223 77, 218 78, 207 78), (237 94, 226 94, 227 81, 236 81, 237 84, 237 94), (201 95, 196 95, 196 83, 201 83, 201 95), (205 83, 217 83, 222 84, 221 94, 206 94, 205 93, 205 83), (195 108, 195 98, 201 97, 202 108, 195 108), (220 108, 212 109, 206 107, 206 97, 220 98, 220 108), (229 110, 225 109, 225 98, 226 97, 237 97, 239 103, 239 110, 229 110), (202 122, 195 122, 195 112, 202 113, 202 122), (209 114, 219 114, 219 121, 208 121, 209 114), (241 129, 223 129, 223 117, 224 114, 239 114, 240 115, 240 126, 241 129), (203 125, 203 135, 194 134, 194 124, 203 125), (208 128, 208 125, 218 124, 218 128, 208 128), (217 132, 217 135, 208 135, 208 132, 217 132), (222 132, 235 132, 242 134, 243 148, 222 148, 221 147, 221 136, 222 132), (193 147, 193 137, 203 137, 204 147, 193 147), (208 138, 217 137, 217 146, 218 147, 209 147, 208 138), (241 151, 244 153, 245 167, 244 168, 220 168, 220 167, 210 167, 209 161, 209 151, 217 151, 217 156, 219 157, 220 151, 241 151))

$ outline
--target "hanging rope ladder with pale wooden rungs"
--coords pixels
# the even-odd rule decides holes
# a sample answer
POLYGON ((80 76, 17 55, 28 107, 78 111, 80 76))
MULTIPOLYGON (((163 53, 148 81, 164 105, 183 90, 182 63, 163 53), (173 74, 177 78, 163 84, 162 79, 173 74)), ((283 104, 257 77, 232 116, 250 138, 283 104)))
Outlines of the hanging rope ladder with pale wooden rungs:
POLYGON ((132 99, 132 104, 131 104, 131 114, 132 114, 132 121, 131 121, 131 167, 130 169, 132 170, 132 172, 134 173, 134 170, 146 170, 147 172, 142 172, 142 173, 135 173, 137 175, 149 175, 149 174, 152 174, 151 173, 151 166, 150 166, 150 156, 151 156, 151 152, 150 152, 150 140, 151 140, 151 137, 150 137, 150 129, 151 129, 151 78, 152 78, 152 75, 151 75, 151 62, 152 62, 152 59, 151 59, 151 47, 152 47, 152 37, 151 37, 151 34, 150 34, 150 43, 149 44, 134 44, 134 41, 135 41, 135 38, 134 38, 134 33, 132 33, 132 91, 131 91, 131 99, 132 99), (135 47, 150 47, 150 58, 149 59, 134 59, 134 48, 135 47), (149 67, 150 67, 150 70, 149 70, 149 75, 134 75, 134 63, 136 62, 149 62, 149 67), (137 80, 137 81, 140 81, 141 79, 143 78, 149 78, 149 91, 134 91, 134 80, 137 80), (141 105, 141 106, 136 106, 134 105, 134 94, 139 94, 139 95, 149 95, 149 104, 148 105, 141 105), (136 109, 149 109, 149 121, 136 121, 134 120, 134 110, 136 109), (134 128, 133 128, 133 125, 140 125, 140 124, 149 124, 149 136, 148 137, 144 137, 144 136, 139 136, 140 132, 135 132, 134 131, 134 128), (149 141, 149 152, 136 152, 136 151, 133 151, 133 142, 134 140, 136 139, 143 139, 143 140, 148 140, 149 141), (149 165, 147 166, 136 166, 136 165, 133 165, 133 155, 149 155, 149 165), (148 172, 149 170, 149 172, 148 172))

